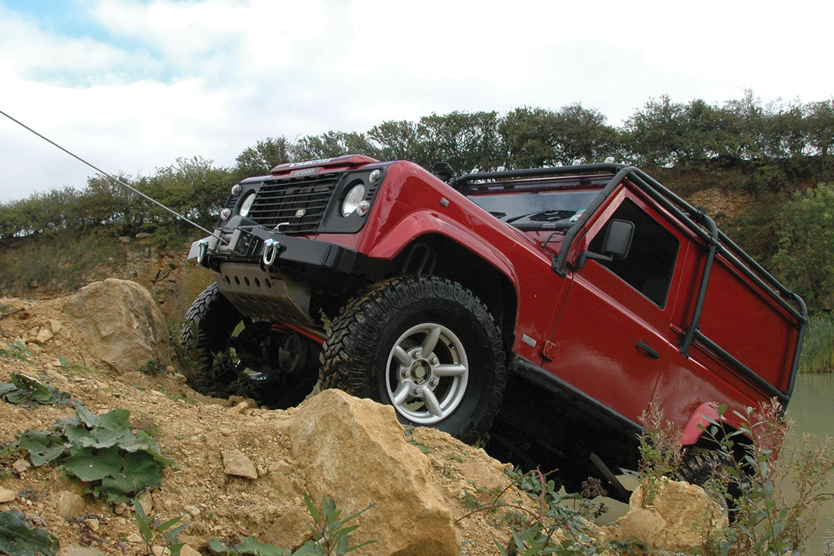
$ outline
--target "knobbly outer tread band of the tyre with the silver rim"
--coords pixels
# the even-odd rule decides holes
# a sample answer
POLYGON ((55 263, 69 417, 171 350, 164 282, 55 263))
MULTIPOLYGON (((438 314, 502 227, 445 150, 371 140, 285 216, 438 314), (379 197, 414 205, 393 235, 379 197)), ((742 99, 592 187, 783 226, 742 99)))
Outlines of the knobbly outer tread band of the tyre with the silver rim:
POLYGON ((495 357, 494 368, 479 369, 488 373, 491 384, 485 411, 456 433, 468 443, 486 437, 500 408, 506 383, 506 369, 501 336, 485 304, 459 283, 435 276, 402 276, 375 283, 344 306, 330 328, 321 356, 320 378, 324 388, 341 388, 363 398, 381 401, 377 374, 373 364, 374 346, 380 329, 390 318, 409 304, 426 298, 441 298, 459 303, 484 328, 488 346, 495 357), (491 376, 490 376, 491 375, 491 376))

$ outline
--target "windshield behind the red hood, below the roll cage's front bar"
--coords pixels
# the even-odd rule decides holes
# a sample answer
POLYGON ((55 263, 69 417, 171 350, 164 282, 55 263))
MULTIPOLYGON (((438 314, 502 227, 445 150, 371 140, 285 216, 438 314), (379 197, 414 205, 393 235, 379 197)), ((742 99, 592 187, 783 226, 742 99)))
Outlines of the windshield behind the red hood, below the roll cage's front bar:
POLYGON ((470 194, 480 208, 522 229, 565 229, 599 193, 590 191, 539 191, 530 193, 470 194))

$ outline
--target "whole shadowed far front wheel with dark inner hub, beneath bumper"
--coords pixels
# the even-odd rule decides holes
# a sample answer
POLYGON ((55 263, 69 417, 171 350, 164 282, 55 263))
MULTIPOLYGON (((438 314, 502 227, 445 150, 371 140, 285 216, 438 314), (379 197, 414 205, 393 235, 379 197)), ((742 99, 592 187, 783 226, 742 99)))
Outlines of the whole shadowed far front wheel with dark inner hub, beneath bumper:
POLYGON ((319 345, 287 328, 244 317, 217 284, 200 293, 185 315, 183 346, 197 361, 198 392, 241 393, 289 408, 313 389, 319 345))

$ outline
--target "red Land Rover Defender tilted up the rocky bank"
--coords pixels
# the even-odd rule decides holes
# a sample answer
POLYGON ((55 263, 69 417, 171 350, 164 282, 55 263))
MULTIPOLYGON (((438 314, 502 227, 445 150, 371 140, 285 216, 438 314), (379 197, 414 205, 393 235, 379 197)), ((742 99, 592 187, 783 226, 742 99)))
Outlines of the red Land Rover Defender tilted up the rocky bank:
POLYGON ((715 403, 787 403, 806 323, 710 218, 615 163, 284 163, 234 185, 190 257, 218 273, 183 328, 206 380, 288 407, 320 378, 618 498, 650 403, 700 462, 715 403))

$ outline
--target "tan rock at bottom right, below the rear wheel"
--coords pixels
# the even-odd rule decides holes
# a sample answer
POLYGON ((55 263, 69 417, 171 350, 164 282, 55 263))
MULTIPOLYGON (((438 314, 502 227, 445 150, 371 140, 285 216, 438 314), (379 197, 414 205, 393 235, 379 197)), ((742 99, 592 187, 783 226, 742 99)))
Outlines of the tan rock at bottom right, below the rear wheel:
POLYGON ((643 507, 643 490, 637 487, 629 511, 604 528, 611 540, 636 538, 660 550, 685 550, 703 545, 705 533, 727 526, 721 506, 696 485, 662 479, 651 506, 643 507))

